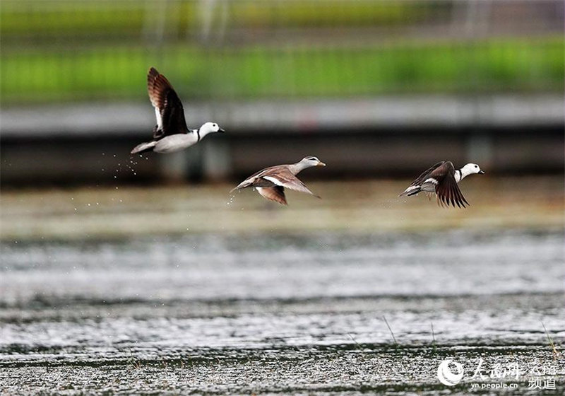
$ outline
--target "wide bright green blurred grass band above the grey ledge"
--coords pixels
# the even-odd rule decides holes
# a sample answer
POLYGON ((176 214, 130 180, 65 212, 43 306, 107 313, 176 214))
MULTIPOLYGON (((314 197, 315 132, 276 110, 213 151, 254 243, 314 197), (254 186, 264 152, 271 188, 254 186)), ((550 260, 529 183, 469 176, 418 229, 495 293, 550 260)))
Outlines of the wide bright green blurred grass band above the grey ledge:
POLYGON ((167 75, 180 95, 194 99, 561 92, 564 39, 405 42, 357 49, 25 48, 4 50, 0 64, 4 105, 142 100, 151 65, 167 75))

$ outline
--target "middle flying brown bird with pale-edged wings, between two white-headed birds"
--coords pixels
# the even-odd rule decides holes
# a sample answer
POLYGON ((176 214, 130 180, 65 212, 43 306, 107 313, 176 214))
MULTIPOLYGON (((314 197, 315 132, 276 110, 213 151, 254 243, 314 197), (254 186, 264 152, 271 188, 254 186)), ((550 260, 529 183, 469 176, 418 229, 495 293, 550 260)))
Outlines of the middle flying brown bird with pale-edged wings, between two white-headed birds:
POLYGON ((290 165, 271 166, 270 168, 259 170, 257 173, 254 173, 254 175, 247 177, 230 192, 247 187, 254 187, 261 196, 283 205, 287 204, 285 187, 289 190, 306 192, 314 195, 314 197, 320 198, 318 195, 308 190, 308 187, 296 177, 301 170, 311 168, 312 166, 326 166, 326 164, 316 157, 309 156, 290 165))

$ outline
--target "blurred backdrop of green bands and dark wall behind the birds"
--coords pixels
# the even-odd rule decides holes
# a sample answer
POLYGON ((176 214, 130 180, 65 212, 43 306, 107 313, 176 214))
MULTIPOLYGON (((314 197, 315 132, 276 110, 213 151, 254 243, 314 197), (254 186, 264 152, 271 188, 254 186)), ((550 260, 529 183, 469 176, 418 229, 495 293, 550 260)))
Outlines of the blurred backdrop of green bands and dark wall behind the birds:
POLYGON ((189 127, 228 134, 120 182, 234 182, 307 155, 325 178, 444 159, 562 173, 563 25, 559 0, 5 0, 1 183, 114 182, 155 124, 149 66, 189 127))

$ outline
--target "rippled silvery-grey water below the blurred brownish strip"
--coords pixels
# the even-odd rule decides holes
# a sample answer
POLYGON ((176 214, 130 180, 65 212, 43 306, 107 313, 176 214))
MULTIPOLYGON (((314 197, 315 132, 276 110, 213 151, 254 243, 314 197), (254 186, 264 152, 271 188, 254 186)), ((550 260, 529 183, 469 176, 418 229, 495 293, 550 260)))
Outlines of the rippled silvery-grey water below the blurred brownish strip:
POLYGON ((556 365, 540 378, 555 380, 545 392, 562 394, 565 361, 547 336, 561 349, 563 236, 4 243, 0 386, 69 395, 535 394, 530 373, 556 365), (447 357, 465 368, 452 388, 436 376, 447 357), (481 358, 491 371, 516 364, 520 375, 471 378, 481 358), (472 390, 477 382, 518 388, 472 390))

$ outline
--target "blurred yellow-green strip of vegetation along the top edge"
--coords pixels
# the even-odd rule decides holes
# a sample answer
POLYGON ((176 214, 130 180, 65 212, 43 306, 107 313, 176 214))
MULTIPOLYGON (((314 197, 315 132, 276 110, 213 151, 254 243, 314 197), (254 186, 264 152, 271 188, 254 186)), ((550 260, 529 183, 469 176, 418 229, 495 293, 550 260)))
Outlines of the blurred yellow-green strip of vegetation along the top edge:
MULTIPOLYGON (((157 4, 157 3, 155 3, 157 4)), ((202 4, 199 1, 168 1, 155 6, 145 1, 1 1, 3 37, 36 37, 76 34, 138 35, 148 24, 148 14, 164 12, 165 23, 174 30, 198 30, 202 4)), ((430 16, 450 15, 448 3, 409 1, 270 0, 227 1, 211 8, 213 18, 221 13, 230 28, 336 28, 339 26, 399 25, 430 16)), ((149 23, 149 25, 151 25, 149 23)))

